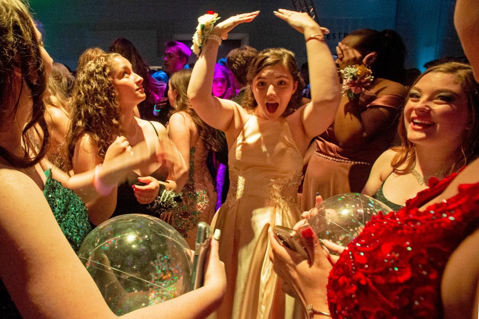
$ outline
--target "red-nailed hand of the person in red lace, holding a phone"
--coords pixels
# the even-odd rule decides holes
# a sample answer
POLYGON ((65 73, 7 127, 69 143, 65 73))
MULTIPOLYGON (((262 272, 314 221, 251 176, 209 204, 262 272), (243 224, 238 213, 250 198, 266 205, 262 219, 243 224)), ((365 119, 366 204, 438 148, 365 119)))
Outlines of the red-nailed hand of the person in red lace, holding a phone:
POLYGON ((273 233, 270 233, 271 252, 269 259, 273 269, 292 288, 304 308, 312 304, 315 309, 327 312, 326 284, 332 263, 329 252, 319 243, 311 228, 302 231, 302 240, 311 261, 300 254, 281 246, 273 233))

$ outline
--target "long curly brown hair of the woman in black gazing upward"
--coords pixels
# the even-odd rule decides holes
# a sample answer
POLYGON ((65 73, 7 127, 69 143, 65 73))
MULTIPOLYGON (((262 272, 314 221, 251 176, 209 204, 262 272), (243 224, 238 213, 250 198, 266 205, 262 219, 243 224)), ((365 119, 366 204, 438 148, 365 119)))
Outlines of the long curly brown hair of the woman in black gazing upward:
POLYGON ((88 134, 98 147, 98 156, 105 158, 114 135, 123 135, 117 92, 111 82, 113 59, 118 53, 100 54, 88 62, 77 74, 73 89, 70 130, 66 138, 67 159, 72 168, 76 143, 88 134))

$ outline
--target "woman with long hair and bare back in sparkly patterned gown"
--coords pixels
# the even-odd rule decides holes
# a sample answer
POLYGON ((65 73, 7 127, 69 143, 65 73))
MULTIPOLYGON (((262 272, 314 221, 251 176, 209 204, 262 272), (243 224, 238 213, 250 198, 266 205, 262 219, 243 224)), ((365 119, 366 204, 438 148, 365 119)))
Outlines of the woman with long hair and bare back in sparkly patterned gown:
POLYGON ((174 111, 168 131, 189 168, 183 203, 174 211, 172 225, 194 249, 198 222, 210 224, 215 214, 217 195, 206 162, 210 151, 219 150, 220 141, 218 130, 203 122, 191 107, 187 97, 190 77, 190 69, 171 76, 168 99, 174 111))

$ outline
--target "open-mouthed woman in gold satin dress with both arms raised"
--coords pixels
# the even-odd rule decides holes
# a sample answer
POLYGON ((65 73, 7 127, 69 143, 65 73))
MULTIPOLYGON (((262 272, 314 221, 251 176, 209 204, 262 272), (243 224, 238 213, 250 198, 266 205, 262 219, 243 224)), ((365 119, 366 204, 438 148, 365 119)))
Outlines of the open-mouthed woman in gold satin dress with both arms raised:
POLYGON ((276 225, 291 227, 299 219, 297 190, 303 155, 309 141, 332 123, 340 100, 336 66, 324 42, 325 28, 305 12, 284 9, 274 14, 305 40, 311 102, 298 107, 304 83, 294 54, 285 48, 265 49, 253 59, 250 88, 242 105, 211 95, 221 39, 258 14, 238 14, 214 26, 188 87, 192 107, 205 123, 225 132, 230 150, 228 198, 212 222, 223 234, 220 256, 228 280, 218 311, 221 318, 292 315, 291 300, 285 298, 267 258, 267 234, 276 225))

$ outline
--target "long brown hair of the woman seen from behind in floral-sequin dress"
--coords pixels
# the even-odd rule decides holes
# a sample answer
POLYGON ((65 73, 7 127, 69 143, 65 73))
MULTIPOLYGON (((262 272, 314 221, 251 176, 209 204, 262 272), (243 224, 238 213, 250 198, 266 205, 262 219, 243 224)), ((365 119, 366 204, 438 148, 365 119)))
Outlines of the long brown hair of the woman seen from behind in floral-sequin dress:
POLYGON ((171 114, 180 111, 188 113, 198 129, 198 136, 205 144, 205 148, 218 152, 221 148, 218 130, 206 124, 198 116, 198 114, 196 114, 195 110, 191 107, 190 101, 188 100, 187 91, 188 84, 190 83, 191 72, 192 71, 190 69, 181 69, 173 73, 171 76, 170 89, 176 90, 178 93, 175 99, 175 109, 171 112, 171 114))

